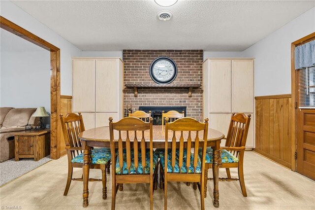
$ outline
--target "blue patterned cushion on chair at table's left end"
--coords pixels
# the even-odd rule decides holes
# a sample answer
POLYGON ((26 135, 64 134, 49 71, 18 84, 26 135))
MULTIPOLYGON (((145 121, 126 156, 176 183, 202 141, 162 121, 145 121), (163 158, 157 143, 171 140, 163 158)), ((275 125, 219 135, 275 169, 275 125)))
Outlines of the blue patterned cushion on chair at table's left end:
MULTIPOLYGON (((110 158, 110 148, 92 149, 92 164, 106 164, 110 158)), ((71 160, 72 163, 83 163, 83 153, 79 154, 71 160)))

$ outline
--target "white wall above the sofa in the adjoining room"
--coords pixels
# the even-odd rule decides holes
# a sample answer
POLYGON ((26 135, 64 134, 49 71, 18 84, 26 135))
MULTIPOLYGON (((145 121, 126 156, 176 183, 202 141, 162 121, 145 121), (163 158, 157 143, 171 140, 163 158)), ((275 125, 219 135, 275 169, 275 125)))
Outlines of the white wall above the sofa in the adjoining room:
POLYGON ((50 112, 50 52, 1 51, 0 106, 50 112))

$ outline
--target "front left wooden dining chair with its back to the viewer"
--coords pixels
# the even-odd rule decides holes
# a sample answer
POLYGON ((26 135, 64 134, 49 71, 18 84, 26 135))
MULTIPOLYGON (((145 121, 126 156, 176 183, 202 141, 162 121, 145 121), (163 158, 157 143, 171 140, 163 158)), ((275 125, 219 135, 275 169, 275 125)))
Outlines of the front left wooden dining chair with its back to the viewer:
POLYGON ((150 183, 152 210, 154 180, 158 172, 158 155, 153 151, 153 118, 150 117, 150 122, 143 122, 136 117, 125 117, 113 123, 113 118, 110 117, 109 132, 112 155, 112 210, 115 209, 119 184, 123 183, 150 183), (118 133, 114 133, 116 131, 118 133), (150 139, 148 149, 146 139, 150 139))

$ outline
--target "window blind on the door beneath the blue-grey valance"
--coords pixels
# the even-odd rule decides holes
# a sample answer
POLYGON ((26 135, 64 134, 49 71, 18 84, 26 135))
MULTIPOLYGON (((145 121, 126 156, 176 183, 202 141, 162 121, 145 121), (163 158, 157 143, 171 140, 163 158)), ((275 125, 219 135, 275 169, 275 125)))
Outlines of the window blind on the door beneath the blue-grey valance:
POLYGON ((298 70, 299 108, 315 108, 315 66, 298 70))

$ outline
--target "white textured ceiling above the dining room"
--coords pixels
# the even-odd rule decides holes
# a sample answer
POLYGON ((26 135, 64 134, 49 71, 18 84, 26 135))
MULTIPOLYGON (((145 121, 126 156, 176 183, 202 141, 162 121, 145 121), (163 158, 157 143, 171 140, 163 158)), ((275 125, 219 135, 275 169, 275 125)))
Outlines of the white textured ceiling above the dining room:
POLYGON ((315 6, 315 1, 12 1, 84 51, 243 51, 315 6), (158 12, 169 10, 170 21, 158 12))

